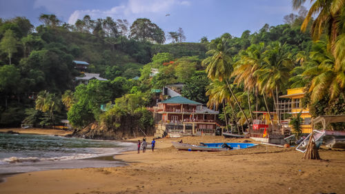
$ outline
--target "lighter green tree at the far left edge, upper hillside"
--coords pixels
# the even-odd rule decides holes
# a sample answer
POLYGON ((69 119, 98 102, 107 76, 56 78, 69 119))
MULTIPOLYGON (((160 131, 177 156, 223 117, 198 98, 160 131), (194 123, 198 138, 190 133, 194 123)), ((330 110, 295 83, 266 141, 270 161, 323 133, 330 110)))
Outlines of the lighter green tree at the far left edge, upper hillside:
POLYGON ((10 64, 11 64, 12 54, 14 52, 17 52, 17 43, 18 43, 18 40, 14 36, 13 31, 6 30, 5 35, 3 35, 3 38, 1 39, 1 42, 0 42, 0 48, 1 50, 7 53, 8 59, 10 60, 10 64))

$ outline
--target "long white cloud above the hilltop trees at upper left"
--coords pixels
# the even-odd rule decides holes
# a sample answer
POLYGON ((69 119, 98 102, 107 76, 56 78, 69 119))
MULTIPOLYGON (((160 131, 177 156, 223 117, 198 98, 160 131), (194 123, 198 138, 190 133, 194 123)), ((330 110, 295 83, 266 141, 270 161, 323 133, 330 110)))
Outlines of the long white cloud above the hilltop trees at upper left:
POLYGON ((128 0, 124 5, 112 7, 110 10, 75 10, 70 15, 68 23, 74 24, 77 19, 83 18, 86 14, 90 15, 92 19, 113 17, 128 19, 129 21, 138 17, 161 17, 175 6, 190 6, 190 2, 179 0, 128 0))

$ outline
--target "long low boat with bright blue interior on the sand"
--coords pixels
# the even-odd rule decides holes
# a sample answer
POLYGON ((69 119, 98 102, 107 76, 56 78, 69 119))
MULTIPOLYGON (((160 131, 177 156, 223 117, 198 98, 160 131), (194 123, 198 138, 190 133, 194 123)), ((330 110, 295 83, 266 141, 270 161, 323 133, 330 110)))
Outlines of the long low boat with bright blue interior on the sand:
POLYGON ((186 151, 228 151, 228 150, 238 150, 243 148, 250 148, 257 146, 257 144, 247 144, 247 143, 212 143, 204 144, 201 143, 199 146, 184 144, 179 142, 172 142, 172 146, 178 150, 186 151))

